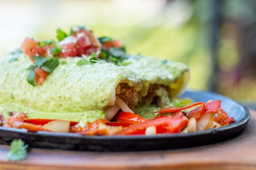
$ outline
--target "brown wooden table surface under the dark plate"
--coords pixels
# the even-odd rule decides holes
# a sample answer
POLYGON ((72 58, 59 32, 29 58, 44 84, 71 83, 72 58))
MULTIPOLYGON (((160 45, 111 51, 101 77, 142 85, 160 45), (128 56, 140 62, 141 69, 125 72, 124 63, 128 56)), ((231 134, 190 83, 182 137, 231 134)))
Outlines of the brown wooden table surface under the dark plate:
MULTIPOLYGON (((12 170, 255 170, 256 111, 241 135, 207 146, 151 152, 79 152, 66 150, 29 150, 27 158, 7 160, 9 146, 0 145, 0 169, 12 170)), ((189 142, 189 141, 188 141, 189 142)))

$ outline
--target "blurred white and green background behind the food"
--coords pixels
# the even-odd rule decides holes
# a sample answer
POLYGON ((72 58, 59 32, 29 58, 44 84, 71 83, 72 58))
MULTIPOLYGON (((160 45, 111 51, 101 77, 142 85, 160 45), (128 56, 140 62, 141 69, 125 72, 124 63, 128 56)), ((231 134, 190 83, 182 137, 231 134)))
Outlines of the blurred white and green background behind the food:
POLYGON ((190 89, 256 101, 254 0, 0 0, 0 55, 85 25, 128 53, 187 64, 190 89))

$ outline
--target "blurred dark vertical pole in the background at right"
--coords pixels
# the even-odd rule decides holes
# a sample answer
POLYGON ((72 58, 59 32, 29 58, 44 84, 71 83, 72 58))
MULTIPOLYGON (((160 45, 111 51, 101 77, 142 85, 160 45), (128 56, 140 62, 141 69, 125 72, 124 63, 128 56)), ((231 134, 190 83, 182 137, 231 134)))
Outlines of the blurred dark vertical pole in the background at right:
POLYGON ((219 43, 219 27, 220 27, 220 20, 221 20, 221 13, 220 13, 220 6, 221 0, 213 0, 213 17, 212 17, 212 64, 213 64, 213 71, 210 77, 210 91, 216 92, 217 88, 217 73, 218 73, 218 43, 219 43))

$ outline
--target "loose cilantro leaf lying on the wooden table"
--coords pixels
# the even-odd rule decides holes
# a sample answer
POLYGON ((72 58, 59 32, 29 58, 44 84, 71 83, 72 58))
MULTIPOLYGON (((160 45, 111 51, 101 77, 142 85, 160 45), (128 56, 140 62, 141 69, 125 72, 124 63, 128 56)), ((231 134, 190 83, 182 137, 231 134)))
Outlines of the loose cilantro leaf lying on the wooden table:
POLYGON ((14 139, 10 147, 11 150, 7 155, 9 160, 18 161, 26 158, 28 145, 25 145, 21 139, 14 139))

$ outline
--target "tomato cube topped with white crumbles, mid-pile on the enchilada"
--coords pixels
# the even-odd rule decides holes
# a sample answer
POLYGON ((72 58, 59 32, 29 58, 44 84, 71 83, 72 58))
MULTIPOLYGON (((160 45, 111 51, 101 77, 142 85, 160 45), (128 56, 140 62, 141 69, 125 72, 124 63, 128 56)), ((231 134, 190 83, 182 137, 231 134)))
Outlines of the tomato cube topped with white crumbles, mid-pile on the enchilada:
POLYGON ((78 45, 75 43, 63 44, 62 50, 59 54, 60 58, 76 57, 78 56, 78 45))

